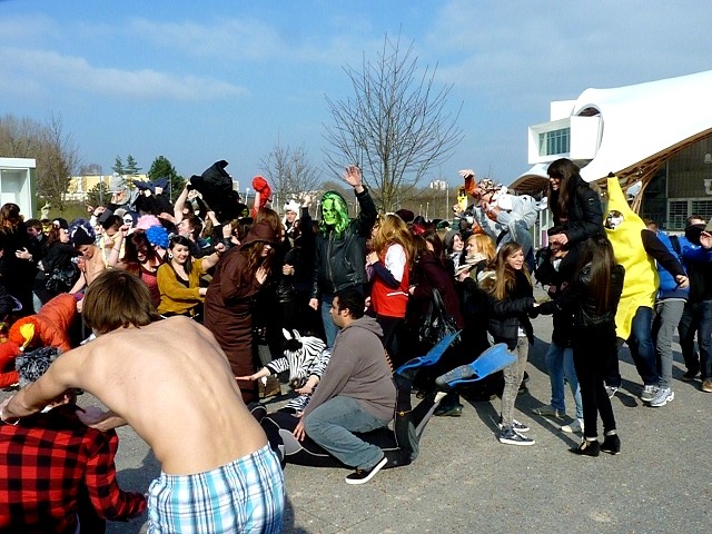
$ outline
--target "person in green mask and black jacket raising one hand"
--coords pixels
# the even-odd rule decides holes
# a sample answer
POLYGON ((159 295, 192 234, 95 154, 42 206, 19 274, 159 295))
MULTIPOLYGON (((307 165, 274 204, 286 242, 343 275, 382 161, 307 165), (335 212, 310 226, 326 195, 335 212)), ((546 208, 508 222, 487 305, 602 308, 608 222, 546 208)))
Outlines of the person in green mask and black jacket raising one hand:
POLYGON ((309 306, 318 309, 322 304, 322 320, 326 345, 334 346, 338 327, 330 316, 334 295, 346 287, 363 290, 366 276, 366 239, 376 222, 376 205, 362 181, 360 169, 355 165, 346 168, 344 179, 354 188, 360 212, 355 219, 348 217, 348 206, 336 191, 326 191, 322 197, 322 219, 316 237, 312 298, 309 306))

